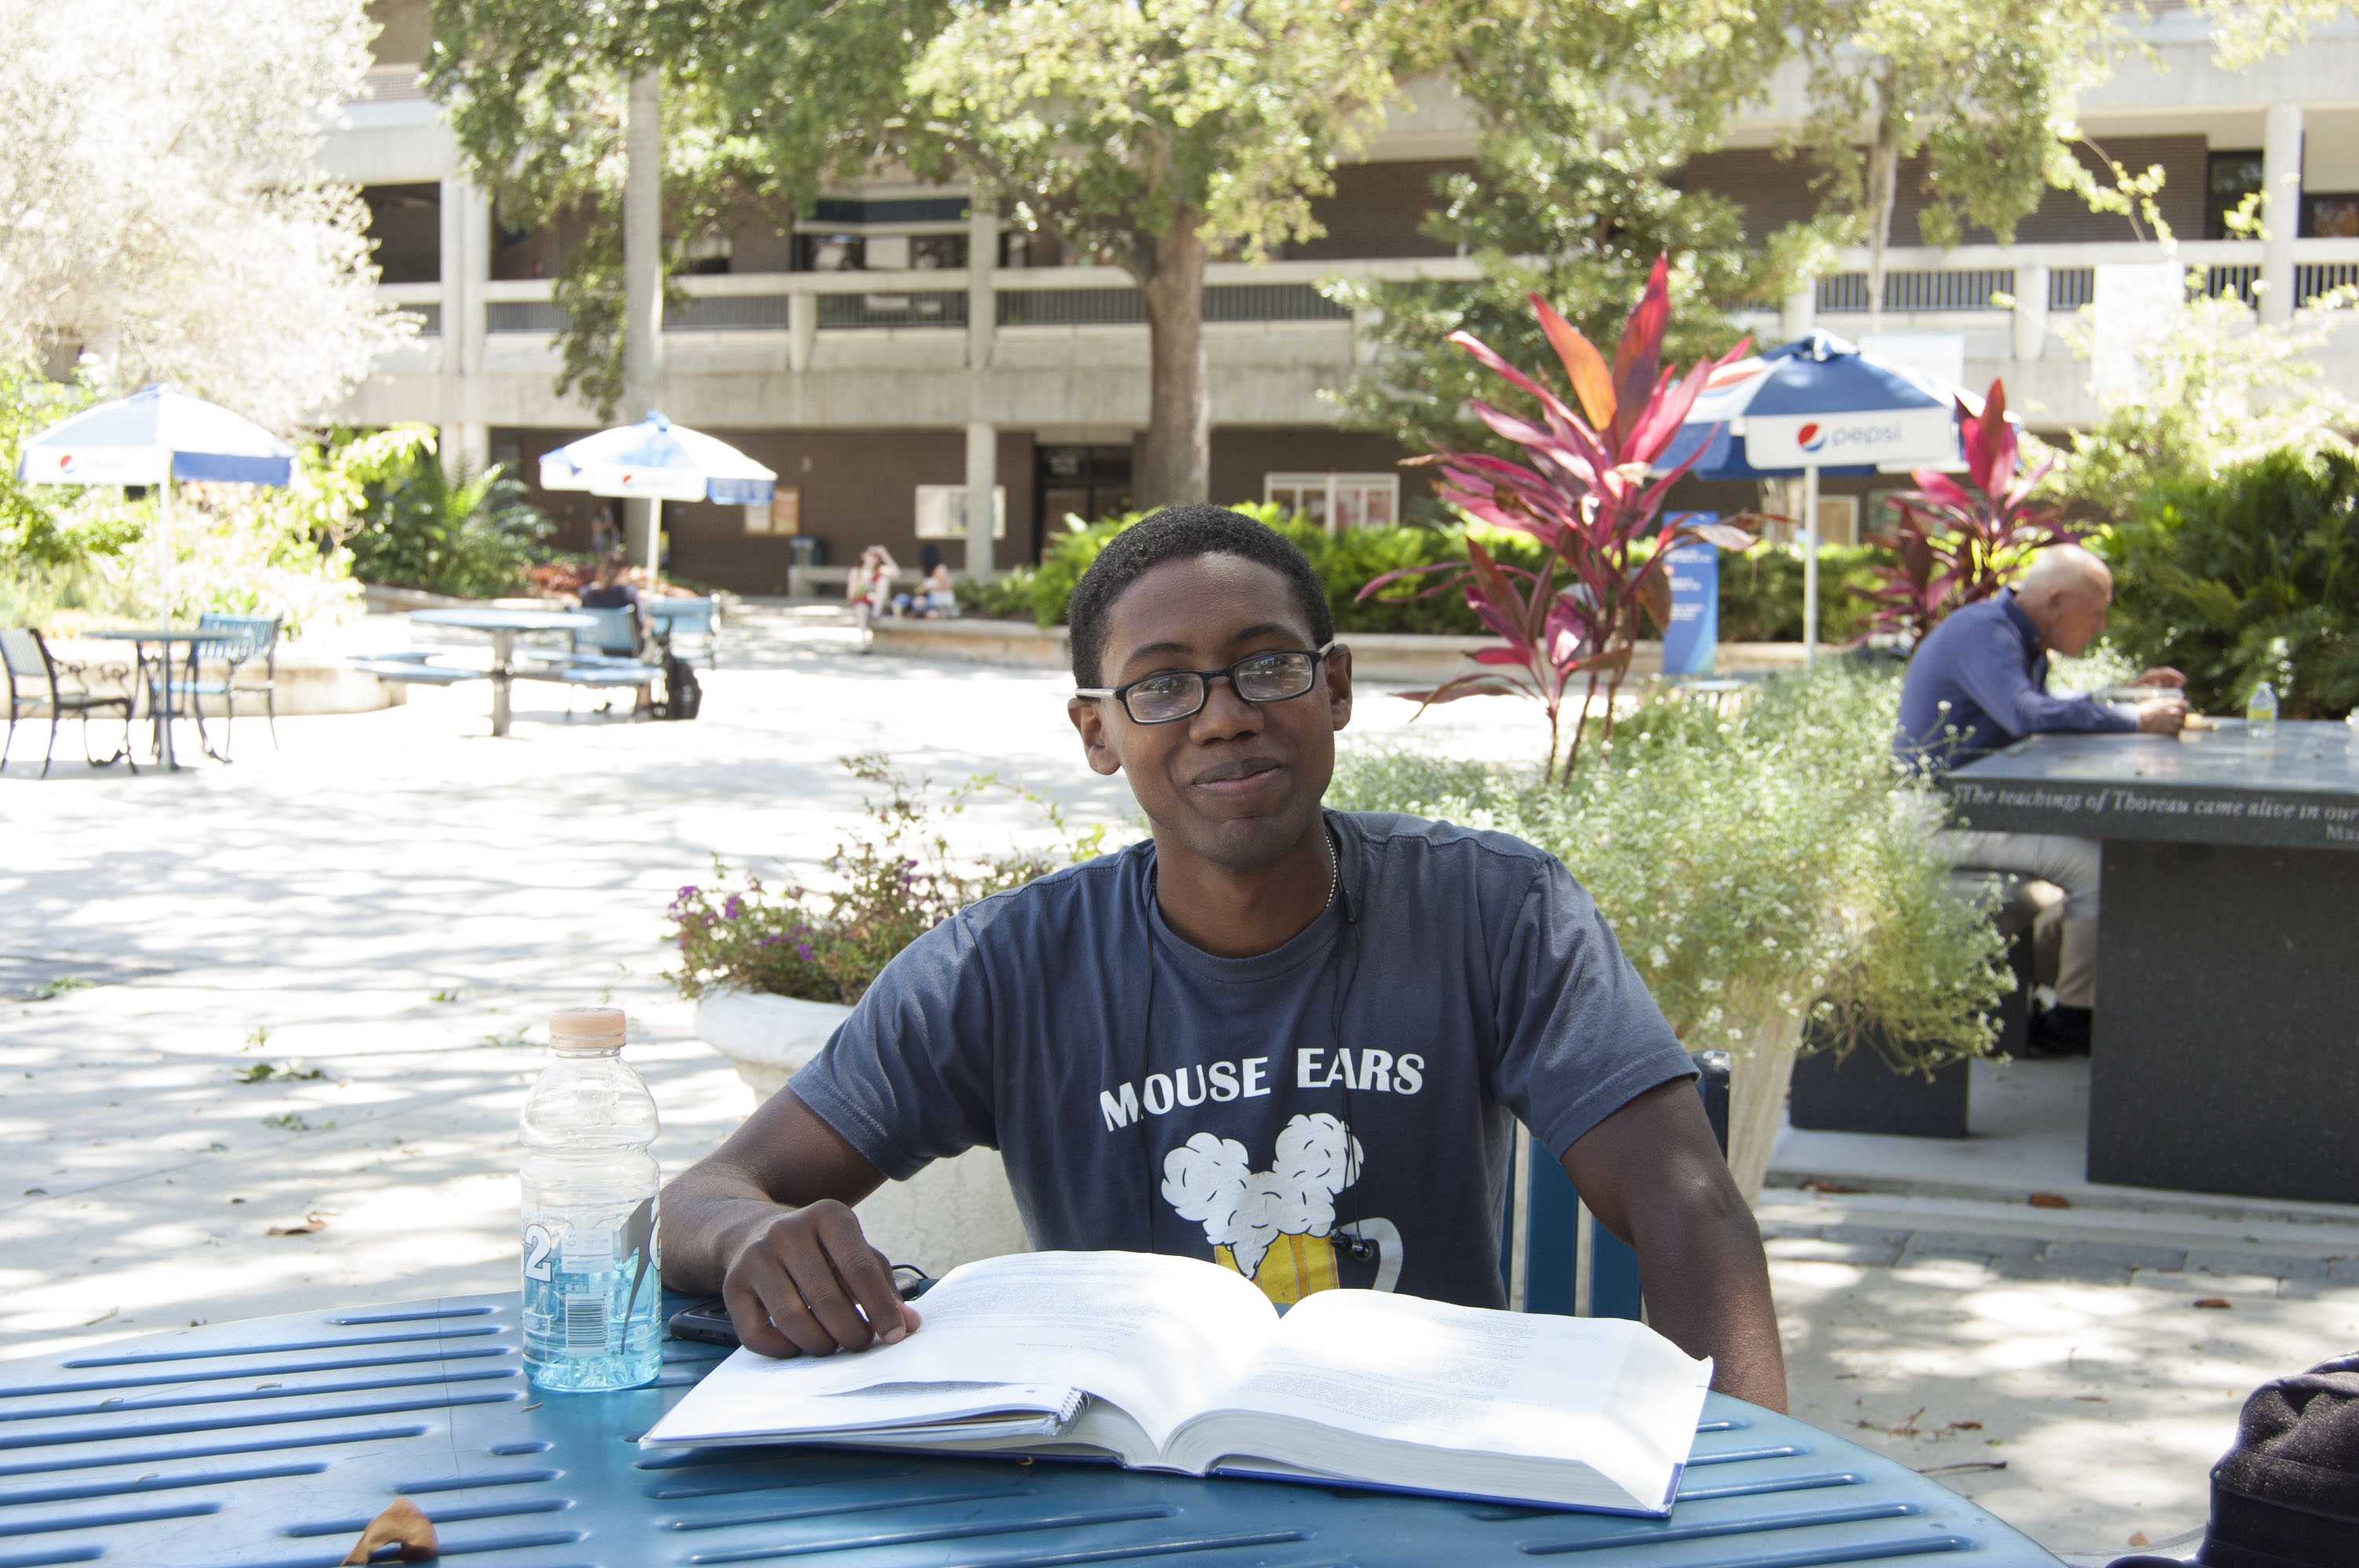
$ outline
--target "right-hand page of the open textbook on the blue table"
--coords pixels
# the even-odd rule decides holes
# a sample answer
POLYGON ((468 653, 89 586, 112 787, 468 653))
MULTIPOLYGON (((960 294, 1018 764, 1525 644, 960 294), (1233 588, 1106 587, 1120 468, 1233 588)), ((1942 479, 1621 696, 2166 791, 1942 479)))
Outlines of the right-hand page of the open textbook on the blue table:
MULTIPOLYGON (((1628 1493, 1632 1507, 1656 1509, 1687 1462, 1708 1382, 1708 1361, 1621 1318, 1323 1290, 1286 1316, 1213 1405, 1281 1417, 1288 1436, 1281 1452, 1264 1452, 1272 1460, 1290 1457, 1305 1427, 1326 1427, 1465 1457, 1578 1462, 1628 1493)), ((1246 1429, 1217 1419, 1222 1436, 1246 1429)), ((1175 1457, 1215 1464, 1220 1455, 1198 1452, 1191 1436, 1182 1434, 1175 1457)), ((1364 1443, 1347 1448, 1366 1462, 1364 1443)))

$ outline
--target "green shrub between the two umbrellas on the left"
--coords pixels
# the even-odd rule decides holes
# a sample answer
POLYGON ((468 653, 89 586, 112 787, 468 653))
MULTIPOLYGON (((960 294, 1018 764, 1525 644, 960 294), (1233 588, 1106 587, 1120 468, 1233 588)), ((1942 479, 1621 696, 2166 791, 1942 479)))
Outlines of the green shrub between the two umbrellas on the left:
POLYGON ((363 582, 455 599, 524 592, 554 533, 524 495, 498 465, 453 479, 422 448, 368 488, 366 521, 347 540, 351 571, 363 582))

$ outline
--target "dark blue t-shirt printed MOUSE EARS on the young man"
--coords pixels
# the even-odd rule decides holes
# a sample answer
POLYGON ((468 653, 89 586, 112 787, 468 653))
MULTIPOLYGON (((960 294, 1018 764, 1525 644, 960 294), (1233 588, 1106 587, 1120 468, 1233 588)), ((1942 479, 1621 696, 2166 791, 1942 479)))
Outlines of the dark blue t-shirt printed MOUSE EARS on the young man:
POLYGON ((1510 1115, 1562 1155, 1694 1068, 1555 856, 1326 821, 1338 894, 1283 948, 1180 938, 1146 839, 911 943, 795 1094, 894 1179, 998 1148, 1033 1247, 1503 1306, 1510 1115))

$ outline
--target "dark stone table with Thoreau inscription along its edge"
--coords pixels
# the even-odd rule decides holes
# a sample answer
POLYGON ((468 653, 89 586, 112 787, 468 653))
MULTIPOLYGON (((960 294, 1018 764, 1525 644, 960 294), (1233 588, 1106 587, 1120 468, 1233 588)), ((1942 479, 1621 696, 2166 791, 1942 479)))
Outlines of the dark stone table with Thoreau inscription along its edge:
POLYGON ((2359 736, 2026 736, 1944 778, 1970 828, 2104 844, 2088 1179, 2359 1195, 2359 736))

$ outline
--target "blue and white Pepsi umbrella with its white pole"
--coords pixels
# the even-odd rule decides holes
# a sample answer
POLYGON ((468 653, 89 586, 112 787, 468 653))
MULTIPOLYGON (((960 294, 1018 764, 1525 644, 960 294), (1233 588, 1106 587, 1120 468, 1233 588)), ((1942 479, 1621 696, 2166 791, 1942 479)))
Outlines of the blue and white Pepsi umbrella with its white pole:
POLYGON ((1802 658, 1819 655, 1819 474, 1906 474, 1956 467, 1958 398, 1982 398, 1861 354, 1831 332, 1741 358, 1703 387, 1656 460, 1698 453, 1696 479, 1802 476, 1802 658))

